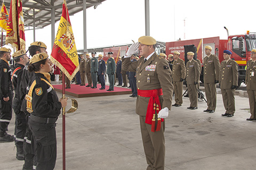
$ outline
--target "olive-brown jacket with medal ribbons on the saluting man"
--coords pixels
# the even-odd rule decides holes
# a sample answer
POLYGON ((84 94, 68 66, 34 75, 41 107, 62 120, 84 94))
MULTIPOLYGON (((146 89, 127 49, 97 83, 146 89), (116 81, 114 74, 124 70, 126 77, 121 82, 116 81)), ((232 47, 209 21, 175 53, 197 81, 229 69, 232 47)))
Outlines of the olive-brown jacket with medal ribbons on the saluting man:
MULTIPOLYGON (((137 74, 137 88, 139 90, 163 90, 163 96, 159 96, 162 108, 171 109, 173 85, 171 82, 172 71, 165 58, 154 53, 149 60, 144 63, 144 57, 131 62, 130 58, 122 58, 122 68, 125 71, 132 71, 137 74)), ((137 97, 136 113, 146 116, 149 97, 137 97)))

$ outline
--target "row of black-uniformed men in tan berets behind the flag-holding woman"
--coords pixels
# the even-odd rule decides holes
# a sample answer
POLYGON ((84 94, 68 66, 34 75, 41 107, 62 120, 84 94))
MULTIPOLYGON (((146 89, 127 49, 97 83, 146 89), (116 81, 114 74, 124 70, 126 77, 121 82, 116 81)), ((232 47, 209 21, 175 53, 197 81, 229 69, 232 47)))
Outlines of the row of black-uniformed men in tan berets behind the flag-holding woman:
MULTIPOLYGON (((31 56, 39 53, 47 53, 46 48, 44 43, 36 41, 30 44, 29 53, 31 56)), ((11 49, 5 47, 0 48, 0 142, 15 141, 15 146, 17 147, 16 158, 18 160, 25 160, 23 170, 31 170, 35 169, 37 159, 34 147, 35 139, 33 139, 31 130, 28 128, 30 114, 27 112, 27 100, 25 96, 28 90, 28 82, 34 73, 28 71, 29 58, 25 49, 13 53, 12 57, 15 62, 13 71, 9 66, 11 49), (12 118, 12 109, 15 113, 14 135, 6 132, 8 131, 8 125, 12 118)))

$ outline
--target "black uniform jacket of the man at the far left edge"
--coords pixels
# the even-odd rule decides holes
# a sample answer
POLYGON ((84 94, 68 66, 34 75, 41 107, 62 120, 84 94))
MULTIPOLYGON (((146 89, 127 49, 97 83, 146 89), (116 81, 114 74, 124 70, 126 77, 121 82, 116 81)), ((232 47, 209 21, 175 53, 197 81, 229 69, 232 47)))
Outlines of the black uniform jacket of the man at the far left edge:
POLYGON ((11 81, 11 67, 5 60, 0 60, 0 94, 4 98, 9 97, 8 92, 13 91, 11 81))

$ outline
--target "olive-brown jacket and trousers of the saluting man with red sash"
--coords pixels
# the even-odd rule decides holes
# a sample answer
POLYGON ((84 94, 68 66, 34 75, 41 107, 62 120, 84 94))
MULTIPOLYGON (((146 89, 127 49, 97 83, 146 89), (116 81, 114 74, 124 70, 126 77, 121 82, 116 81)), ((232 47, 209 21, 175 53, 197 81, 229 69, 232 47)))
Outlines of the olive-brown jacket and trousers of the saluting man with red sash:
MULTIPOLYGON (((145 57, 139 61, 131 62, 130 58, 122 58, 122 69, 125 71, 137 72, 138 90, 163 90, 163 95, 159 96, 161 107, 171 109, 173 85, 171 82, 171 70, 167 61, 154 53, 149 60, 144 62, 145 57)), ((151 125, 145 123, 147 107, 150 97, 138 96, 136 101, 136 113, 140 115, 140 128, 142 142, 148 163, 147 169, 164 169, 165 142, 164 129, 165 122, 162 123, 161 130, 151 132, 151 125)))

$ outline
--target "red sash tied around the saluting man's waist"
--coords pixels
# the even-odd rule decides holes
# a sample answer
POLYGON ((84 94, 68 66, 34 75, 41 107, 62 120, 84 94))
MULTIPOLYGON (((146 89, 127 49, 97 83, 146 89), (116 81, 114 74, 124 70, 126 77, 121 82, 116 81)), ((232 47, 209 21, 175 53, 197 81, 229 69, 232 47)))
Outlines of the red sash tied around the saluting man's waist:
MULTIPOLYGON (((159 96, 163 95, 163 90, 161 89, 154 89, 154 90, 139 90, 138 95, 141 97, 150 97, 148 101, 148 108, 147 108, 147 114, 146 114, 146 120, 145 123, 147 124, 155 124, 155 115, 158 114, 159 111, 161 111, 161 104, 159 100, 159 96), (156 113, 155 113, 156 112, 156 113)), ((161 118, 161 121, 163 122, 164 119, 161 118)), ((153 131, 153 129, 152 129, 153 131)))

